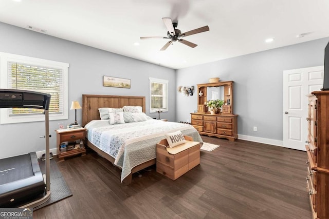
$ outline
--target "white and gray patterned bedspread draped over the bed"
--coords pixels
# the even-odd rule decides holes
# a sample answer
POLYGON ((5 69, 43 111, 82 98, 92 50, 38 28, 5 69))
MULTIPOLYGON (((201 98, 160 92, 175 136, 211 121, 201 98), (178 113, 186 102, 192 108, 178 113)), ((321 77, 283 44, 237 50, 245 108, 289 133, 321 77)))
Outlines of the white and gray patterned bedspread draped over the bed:
POLYGON ((166 133, 180 130, 182 134, 202 142, 197 130, 188 124, 148 120, 144 122, 109 125, 107 120, 88 123, 88 140, 115 158, 115 165, 122 169, 121 182, 131 170, 156 157, 156 143, 166 133))

